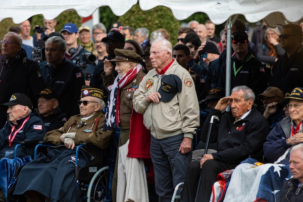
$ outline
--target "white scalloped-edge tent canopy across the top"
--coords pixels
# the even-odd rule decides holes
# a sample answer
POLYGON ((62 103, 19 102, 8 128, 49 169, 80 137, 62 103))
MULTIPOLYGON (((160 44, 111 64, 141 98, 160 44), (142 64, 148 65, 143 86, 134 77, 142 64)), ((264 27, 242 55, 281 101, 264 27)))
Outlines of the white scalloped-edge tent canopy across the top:
MULTIPOLYGON (((295 22, 303 17, 301 0, 139 0, 138 2, 143 11, 157 6, 168 7, 178 20, 186 19, 196 12, 203 12, 215 24, 222 24, 235 14, 245 16, 248 22, 257 22, 267 17, 267 23, 270 25, 272 20, 273 24, 284 24, 284 20, 295 22), (268 16, 269 14, 271 16, 268 16)), ((21 23, 37 14, 42 14, 46 19, 53 19, 70 9, 76 10, 81 17, 88 17, 97 8, 103 6, 109 6, 115 15, 121 16, 136 3, 137 0, 2 1, 0 21, 12 18, 14 23, 21 23)))

